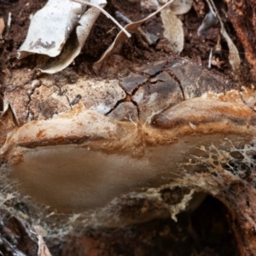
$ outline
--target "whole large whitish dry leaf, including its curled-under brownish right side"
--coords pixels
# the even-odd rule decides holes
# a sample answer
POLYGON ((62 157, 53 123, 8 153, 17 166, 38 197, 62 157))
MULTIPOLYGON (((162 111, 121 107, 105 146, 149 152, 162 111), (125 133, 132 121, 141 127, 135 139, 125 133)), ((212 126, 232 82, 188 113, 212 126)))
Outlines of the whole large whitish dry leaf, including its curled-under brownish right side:
MULTIPOLYGON (((90 3, 103 7, 107 2, 94 0, 90 3)), ((49 56, 44 67, 40 68, 43 73, 57 73, 69 66, 79 55, 90 29, 101 13, 96 8, 90 8, 84 13, 85 7, 84 4, 70 0, 49 0, 44 8, 33 16, 18 56, 49 56)))

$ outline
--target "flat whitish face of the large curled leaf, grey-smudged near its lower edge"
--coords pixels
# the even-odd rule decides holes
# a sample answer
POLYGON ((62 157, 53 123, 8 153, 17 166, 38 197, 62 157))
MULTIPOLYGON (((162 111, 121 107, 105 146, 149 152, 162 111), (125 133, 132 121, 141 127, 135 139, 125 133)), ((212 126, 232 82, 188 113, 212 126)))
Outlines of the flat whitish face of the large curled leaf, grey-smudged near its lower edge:
POLYGON ((50 57, 60 55, 62 47, 83 12, 84 6, 79 3, 49 0, 43 9, 33 15, 26 40, 19 49, 19 57, 31 54, 50 57))

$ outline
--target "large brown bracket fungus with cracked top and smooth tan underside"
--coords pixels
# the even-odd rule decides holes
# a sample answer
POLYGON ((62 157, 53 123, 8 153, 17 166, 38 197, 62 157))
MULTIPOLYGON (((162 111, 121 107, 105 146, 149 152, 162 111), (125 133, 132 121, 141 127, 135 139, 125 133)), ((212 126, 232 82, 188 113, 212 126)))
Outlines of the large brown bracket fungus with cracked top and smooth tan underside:
POLYGON ((44 75, 40 83, 32 81, 38 84, 33 90, 32 84, 19 84, 16 71, 7 88, 17 89, 5 97, 20 127, 2 135, 0 148, 15 189, 59 212, 94 212, 87 215, 89 224, 108 226, 170 214, 175 219, 197 207, 203 195, 213 195, 236 216, 237 239, 247 236, 253 208, 244 211, 237 203, 246 207, 247 193, 255 196, 253 90, 180 59, 135 70, 139 74, 102 85, 78 78, 61 88, 44 75), (19 97, 20 90, 29 101, 19 97), (71 105, 77 91, 79 101, 71 105), (39 115, 46 100, 51 114, 39 115), (17 111, 20 105, 25 108, 17 111), (178 193, 179 200, 165 201, 164 189, 178 193), (137 200, 150 201, 152 211, 122 211, 137 200))

